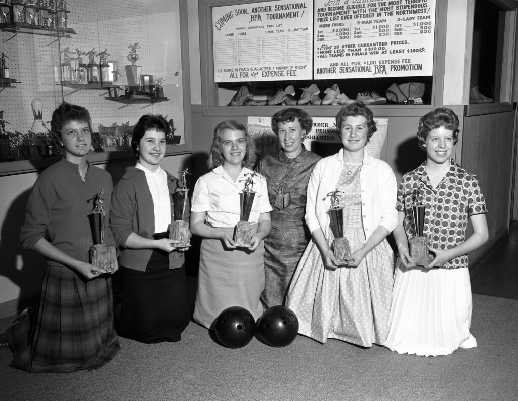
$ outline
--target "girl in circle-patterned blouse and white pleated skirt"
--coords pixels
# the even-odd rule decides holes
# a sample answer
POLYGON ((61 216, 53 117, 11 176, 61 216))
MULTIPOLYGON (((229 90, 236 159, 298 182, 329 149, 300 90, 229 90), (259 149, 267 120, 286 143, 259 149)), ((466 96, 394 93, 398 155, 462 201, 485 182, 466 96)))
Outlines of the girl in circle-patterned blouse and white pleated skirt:
POLYGON ((451 159, 458 125, 448 108, 421 118, 418 137, 427 160, 405 174, 399 186, 399 224, 394 230, 399 259, 385 346, 400 354, 448 355, 459 347, 477 346, 469 331, 472 297, 467 254, 487 241, 487 210, 477 178, 451 159), (409 254, 407 238, 415 236, 411 204, 416 195, 426 205, 424 235, 433 259, 427 266, 415 265, 409 254), (466 239, 468 217, 473 234, 466 239))

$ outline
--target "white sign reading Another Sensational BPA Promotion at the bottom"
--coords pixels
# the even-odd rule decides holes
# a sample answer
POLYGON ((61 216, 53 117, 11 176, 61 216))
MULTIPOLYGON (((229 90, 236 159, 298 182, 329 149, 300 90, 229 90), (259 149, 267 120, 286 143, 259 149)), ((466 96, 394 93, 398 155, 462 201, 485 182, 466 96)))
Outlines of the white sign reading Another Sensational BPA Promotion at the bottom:
POLYGON ((431 76, 435 0, 315 0, 314 79, 431 76))

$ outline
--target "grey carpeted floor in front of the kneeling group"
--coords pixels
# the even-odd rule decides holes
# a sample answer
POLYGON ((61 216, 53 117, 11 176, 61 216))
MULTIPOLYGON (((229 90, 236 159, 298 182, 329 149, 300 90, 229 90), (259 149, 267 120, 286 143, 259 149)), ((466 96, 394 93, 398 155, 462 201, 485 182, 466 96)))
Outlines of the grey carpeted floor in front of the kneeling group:
MULTIPOLYGON (((478 347, 449 356, 398 355, 298 336, 285 348, 257 339, 221 347, 191 323, 178 343, 143 345, 121 339, 104 368, 70 374, 28 374, 10 368, 0 350, 0 399, 28 400, 456 400, 518 399, 518 300, 473 296, 478 347)), ((0 330, 8 324, 0 321, 0 330)))

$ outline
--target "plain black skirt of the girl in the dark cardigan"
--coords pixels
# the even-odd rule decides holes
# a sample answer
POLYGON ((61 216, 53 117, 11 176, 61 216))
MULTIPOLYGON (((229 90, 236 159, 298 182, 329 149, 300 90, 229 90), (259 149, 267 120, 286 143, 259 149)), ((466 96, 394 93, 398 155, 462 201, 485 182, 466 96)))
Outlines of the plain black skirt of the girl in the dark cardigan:
POLYGON ((146 271, 120 268, 122 337, 145 343, 179 341, 189 324, 184 266, 169 269, 167 252, 154 250, 146 271))

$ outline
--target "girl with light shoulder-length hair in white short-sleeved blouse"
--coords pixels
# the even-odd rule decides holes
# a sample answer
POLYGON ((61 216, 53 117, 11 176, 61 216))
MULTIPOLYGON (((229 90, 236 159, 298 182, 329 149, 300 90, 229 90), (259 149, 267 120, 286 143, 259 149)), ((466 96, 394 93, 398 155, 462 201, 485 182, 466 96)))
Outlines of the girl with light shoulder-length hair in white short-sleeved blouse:
POLYGON ((263 312, 263 238, 271 207, 266 180, 248 168, 254 156, 246 125, 221 122, 214 129, 211 171, 193 191, 191 231, 203 237, 194 320, 211 330, 227 307, 246 308, 256 320, 263 312))

